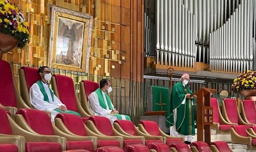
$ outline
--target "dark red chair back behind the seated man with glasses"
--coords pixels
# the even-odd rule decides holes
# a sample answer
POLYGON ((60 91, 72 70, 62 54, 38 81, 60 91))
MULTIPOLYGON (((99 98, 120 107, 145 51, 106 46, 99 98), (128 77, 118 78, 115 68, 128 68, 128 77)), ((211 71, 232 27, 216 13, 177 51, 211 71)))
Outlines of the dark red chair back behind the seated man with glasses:
POLYGON ((24 102, 31 108, 34 107, 31 105, 29 92, 31 86, 38 80, 40 80, 40 76, 38 75, 37 68, 22 66, 19 69, 20 94, 24 102))

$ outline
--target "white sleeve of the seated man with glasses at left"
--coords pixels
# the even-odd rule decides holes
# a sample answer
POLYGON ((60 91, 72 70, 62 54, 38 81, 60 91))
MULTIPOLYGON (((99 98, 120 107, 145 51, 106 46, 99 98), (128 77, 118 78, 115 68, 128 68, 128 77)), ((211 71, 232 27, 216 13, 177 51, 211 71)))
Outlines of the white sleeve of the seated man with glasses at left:
POLYGON ((30 102, 38 110, 54 110, 58 105, 51 104, 43 100, 43 94, 38 84, 33 84, 30 88, 30 102))

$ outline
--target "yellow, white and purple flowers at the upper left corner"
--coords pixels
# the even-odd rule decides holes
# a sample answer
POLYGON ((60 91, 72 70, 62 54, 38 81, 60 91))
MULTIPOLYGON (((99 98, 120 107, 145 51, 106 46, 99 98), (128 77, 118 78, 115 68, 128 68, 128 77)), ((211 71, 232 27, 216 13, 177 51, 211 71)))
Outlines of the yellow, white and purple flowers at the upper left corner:
POLYGON ((18 39, 17 47, 23 48, 30 42, 27 22, 19 9, 9 0, 0 0, 0 32, 18 39))

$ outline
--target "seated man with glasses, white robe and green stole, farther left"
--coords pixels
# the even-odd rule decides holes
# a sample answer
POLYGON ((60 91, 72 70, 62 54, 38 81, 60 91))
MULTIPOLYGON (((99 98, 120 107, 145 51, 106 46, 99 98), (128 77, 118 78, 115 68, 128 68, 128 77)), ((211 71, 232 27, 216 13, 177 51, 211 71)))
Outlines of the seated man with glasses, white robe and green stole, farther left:
POLYGON ((49 88, 48 81, 51 80, 51 70, 47 66, 41 66, 38 69, 40 80, 30 88, 30 102, 38 110, 51 112, 51 122, 58 113, 70 113, 81 115, 75 111, 67 110, 67 107, 56 97, 49 88))

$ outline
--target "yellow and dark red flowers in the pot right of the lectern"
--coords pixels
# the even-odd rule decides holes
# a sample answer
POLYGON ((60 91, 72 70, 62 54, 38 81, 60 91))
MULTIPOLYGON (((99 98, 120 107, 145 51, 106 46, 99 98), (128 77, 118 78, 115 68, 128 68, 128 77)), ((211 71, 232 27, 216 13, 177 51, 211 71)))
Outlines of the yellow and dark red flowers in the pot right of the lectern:
POLYGON ((256 89, 256 71, 247 70, 237 76, 232 84, 233 91, 256 89))

